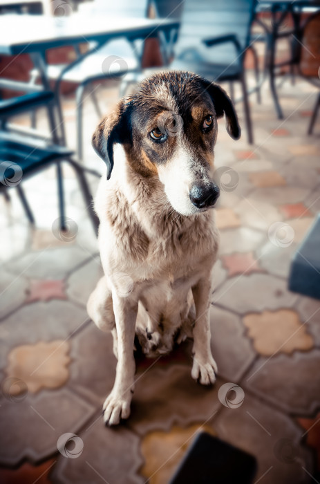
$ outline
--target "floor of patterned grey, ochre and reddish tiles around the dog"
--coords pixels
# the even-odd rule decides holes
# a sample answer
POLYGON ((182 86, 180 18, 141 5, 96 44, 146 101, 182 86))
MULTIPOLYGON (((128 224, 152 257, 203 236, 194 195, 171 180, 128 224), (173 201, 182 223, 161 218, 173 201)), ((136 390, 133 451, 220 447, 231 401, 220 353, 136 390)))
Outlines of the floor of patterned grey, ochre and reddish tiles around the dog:
MULTIPOLYGON (((98 92, 104 108, 116 100, 114 85, 98 92)), ((189 341, 169 357, 140 357, 131 417, 118 428, 102 422, 115 357, 111 336, 86 315, 102 268, 73 174, 66 172, 67 240, 53 228, 53 169, 24 183, 37 228, 14 190, 11 203, 0 199, 1 483, 166 484, 199 429, 254 454, 256 483, 320 481, 320 301, 287 288, 292 254, 320 210, 319 124, 305 134, 316 92, 286 81, 281 121, 266 85, 262 97, 261 105, 251 98, 254 146, 245 129, 234 142, 219 122, 216 385, 191 379, 189 341), (240 404, 218 398, 229 382, 244 392, 240 404)), ((72 98, 64 109, 75 146, 72 98)), ((238 113, 243 121, 241 104, 238 113)), ((90 145, 96 123, 87 100, 84 158, 100 169, 90 145)), ((90 182, 94 191, 97 180, 90 182)))

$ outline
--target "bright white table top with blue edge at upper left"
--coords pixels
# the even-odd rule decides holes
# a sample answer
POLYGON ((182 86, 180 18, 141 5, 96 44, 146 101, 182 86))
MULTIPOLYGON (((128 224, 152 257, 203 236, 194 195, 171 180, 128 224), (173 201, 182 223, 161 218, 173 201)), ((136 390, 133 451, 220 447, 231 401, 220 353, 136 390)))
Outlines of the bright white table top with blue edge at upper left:
POLYGON ((118 37, 144 38, 158 30, 178 28, 170 19, 137 19, 73 14, 69 17, 45 15, 0 16, 0 54, 44 52, 48 48, 118 37))

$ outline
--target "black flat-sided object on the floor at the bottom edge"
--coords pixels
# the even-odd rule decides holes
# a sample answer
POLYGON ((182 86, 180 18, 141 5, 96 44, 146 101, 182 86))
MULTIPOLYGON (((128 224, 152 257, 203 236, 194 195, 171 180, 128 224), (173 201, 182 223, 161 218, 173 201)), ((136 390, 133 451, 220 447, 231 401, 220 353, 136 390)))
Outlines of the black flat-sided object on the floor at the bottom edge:
POLYGON ((255 474, 253 456, 202 432, 169 484, 251 484, 255 474))

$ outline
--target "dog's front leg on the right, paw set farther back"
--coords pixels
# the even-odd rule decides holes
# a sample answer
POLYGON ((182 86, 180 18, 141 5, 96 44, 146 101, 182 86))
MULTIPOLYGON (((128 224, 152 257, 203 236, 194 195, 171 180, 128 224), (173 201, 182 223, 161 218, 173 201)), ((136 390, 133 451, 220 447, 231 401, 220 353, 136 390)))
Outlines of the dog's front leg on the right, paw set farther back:
POLYGON ((200 279, 192 288, 194 304, 196 306, 196 322, 193 328, 194 335, 194 364, 191 370, 191 377, 199 380, 204 385, 216 381, 217 366, 211 354, 209 306, 211 294, 210 277, 200 279))

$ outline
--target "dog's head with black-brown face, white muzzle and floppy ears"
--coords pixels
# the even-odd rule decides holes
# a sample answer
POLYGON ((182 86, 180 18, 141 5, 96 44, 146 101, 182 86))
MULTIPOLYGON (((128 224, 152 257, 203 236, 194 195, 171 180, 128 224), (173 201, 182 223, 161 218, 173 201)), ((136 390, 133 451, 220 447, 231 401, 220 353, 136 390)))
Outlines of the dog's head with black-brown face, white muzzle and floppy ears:
POLYGON ((213 179, 217 118, 225 114, 227 132, 241 129, 234 106, 220 86, 193 73, 155 74, 121 100, 93 134, 93 147, 113 169, 113 145, 142 176, 156 176, 172 207, 191 215, 213 207, 219 188, 213 179))

